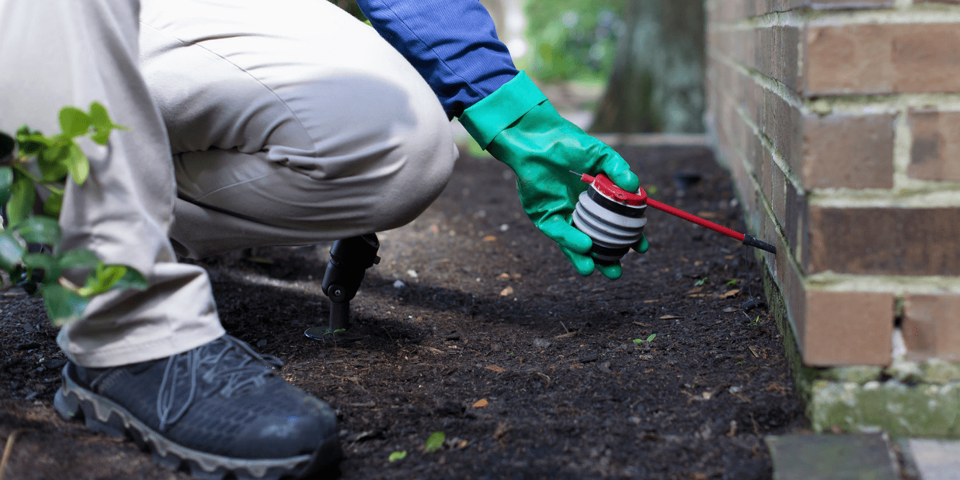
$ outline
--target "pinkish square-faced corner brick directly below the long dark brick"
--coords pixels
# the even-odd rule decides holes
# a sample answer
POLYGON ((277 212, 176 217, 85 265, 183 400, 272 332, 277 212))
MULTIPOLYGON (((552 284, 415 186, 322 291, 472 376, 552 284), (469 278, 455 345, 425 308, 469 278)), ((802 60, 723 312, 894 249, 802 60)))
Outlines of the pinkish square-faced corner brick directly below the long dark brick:
POLYGON ((804 363, 817 367, 887 365, 894 295, 875 292, 805 293, 804 363))

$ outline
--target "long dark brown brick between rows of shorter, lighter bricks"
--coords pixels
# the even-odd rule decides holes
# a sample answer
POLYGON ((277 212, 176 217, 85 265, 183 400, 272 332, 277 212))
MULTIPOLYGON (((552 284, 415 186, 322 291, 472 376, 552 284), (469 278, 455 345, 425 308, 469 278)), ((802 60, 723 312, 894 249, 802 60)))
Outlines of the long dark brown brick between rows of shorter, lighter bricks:
POLYGON ((960 275, 960 207, 810 205, 808 215, 808 274, 960 275))

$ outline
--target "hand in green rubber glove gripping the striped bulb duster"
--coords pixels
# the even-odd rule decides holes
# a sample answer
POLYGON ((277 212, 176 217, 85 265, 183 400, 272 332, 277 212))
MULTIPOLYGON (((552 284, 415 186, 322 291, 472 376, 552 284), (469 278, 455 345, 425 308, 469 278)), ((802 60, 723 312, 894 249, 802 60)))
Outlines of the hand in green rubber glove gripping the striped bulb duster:
MULTIPOLYGON (((570 173, 603 173, 624 190, 634 192, 639 179, 608 145, 560 116, 540 88, 524 72, 503 84, 460 117, 467 132, 494 158, 516 173, 516 191, 523 210, 560 249, 580 275, 597 268, 608 278, 623 275, 619 263, 596 266, 589 250, 593 241, 573 227, 573 209, 587 184, 570 173)), ((636 245, 646 252, 646 238, 636 245)))

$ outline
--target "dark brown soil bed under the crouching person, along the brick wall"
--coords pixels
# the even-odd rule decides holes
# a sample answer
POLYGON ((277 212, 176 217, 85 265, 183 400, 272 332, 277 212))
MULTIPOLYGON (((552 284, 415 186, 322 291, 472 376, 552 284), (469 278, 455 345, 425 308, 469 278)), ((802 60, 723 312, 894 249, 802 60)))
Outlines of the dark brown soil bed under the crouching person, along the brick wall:
MULTIPOLYGON (((743 228, 708 150, 622 153, 651 197, 743 228)), ((329 245, 202 264, 228 332, 338 409, 345 479, 770 478, 763 436, 803 419, 754 253, 648 217, 650 252, 625 257, 623 278, 577 276, 523 216, 513 174, 464 157, 436 204, 380 235, 349 331, 370 337, 335 346, 303 336, 326 323, 329 245), (443 449, 425 453, 438 431, 443 449)), ((8 293, 0 309, 0 435, 27 429, 8 478, 187 478, 60 420, 65 360, 42 304, 8 293)))

